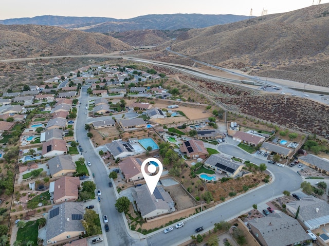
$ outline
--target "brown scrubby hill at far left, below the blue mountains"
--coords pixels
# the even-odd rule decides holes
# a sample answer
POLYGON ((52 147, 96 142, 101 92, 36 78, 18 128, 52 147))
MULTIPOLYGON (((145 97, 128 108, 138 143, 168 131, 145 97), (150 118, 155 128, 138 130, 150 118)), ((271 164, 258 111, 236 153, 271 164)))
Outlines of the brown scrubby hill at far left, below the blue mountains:
POLYGON ((52 55, 99 54, 133 47, 102 33, 38 25, 0 25, 0 60, 52 55))

